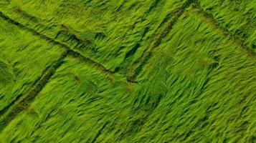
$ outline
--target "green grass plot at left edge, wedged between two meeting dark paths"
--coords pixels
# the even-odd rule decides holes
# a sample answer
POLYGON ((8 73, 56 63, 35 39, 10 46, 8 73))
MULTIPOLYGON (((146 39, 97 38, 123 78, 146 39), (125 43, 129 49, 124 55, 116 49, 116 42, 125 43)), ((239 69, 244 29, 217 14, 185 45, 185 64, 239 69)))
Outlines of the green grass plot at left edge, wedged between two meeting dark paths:
POLYGON ((63 51, 0 18, 0 111, 28 92, 63 51))

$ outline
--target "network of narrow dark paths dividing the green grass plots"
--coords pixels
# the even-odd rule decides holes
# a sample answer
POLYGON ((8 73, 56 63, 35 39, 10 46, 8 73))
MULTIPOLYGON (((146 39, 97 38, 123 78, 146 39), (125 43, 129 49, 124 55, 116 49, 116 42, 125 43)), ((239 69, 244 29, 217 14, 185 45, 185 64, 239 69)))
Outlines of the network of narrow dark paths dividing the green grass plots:
MULTIPOLYGON (((161 40, 169 34, 174 24, 176 24, 176 21, 179 19, 179 17, 182 14, 184 14, 186 9, 188 8, 194 9, 196 14, 204 17, 204 19, 207 19, 213 26, 215 26, 217 29, 222 31, 224 36, 229 37, 231 41, 233 41, 234 43, 237 43, 237 45, 240 46, 242 51, 244 51, 246 54, 255 56, 255 53, 253 51, 250 51, 250 49, 245 45, 245 41, 242 41, 240 36, 230 34, 227 29, 224 29, 222 26, 220 26, 220 24, 214 21, 214 19, 212 18, 213 16, 211 14, 208 14, 207 12, 203 11, 199 6, 197 6, 196 1, 188 0, 184 3, 184 5, 180 6, 178 9, 175 9, 174 11, 171 11, 170 14, 166 15, 166 19, 164 19, 164 21, 161 23, 161 26, 163 26, 163 29, 158 29, 159 32, 156 32, 155 34, 156 41, 153 42, 149 46, 149 48, 146 49, 146 51, 144 51, 143 55, 141 55, 138 61, 136 61, 136 64, 134 64, 131 67, 133 74, 129 76, 125 75, 125 77, 127 77, 127 82, 129 82, 129 84, 136 84, 136 83, 139 84, 139 82, 136 81, 136 77, 138 77, 138 74, 140 74, 141 69, 143 69, 143 66, 148 62, 148 59, 151 58, 153 51, 155 51, 157 47, 161 44, 161 40)), ((34 97, 36 97, 37 94, 39 94, 39 92, 42 91, 44 86, 49 82, 52 75, 54 75, 54 72, 62 65, 63 60, 67 56, 75 57, 89 65, 94 66, 96 69, 100 70, 106 77, 111 77, 113 76, 113 74, 118 74, 118 73, 115 73, 115 71, 113 70, 107 69, 105 66, 103 66, 103 64, 100 64, 98 61, 94 61, 92 58, 81 54, 80 51, 76 51, 70 48, 70 46, 63 43, 62 41, 57 41, 56 39, 52 39, 46 34, 42 34, 36 31, 35 29, 29 28, 29 26, 19 23, 15 19, 11 19, 2 11, 0 11, 0 16, 1 18, 8 21, 10 24, 14 24, 21 29, 29 31, 32 34, 37 35, 42 39, 46 39, 47 41, 65 49, 65 53, 62 54, 60 59, 57 59, 56 61, 54 61, 51 66, 47 67, 47 69, 44 70, 42 77, 40 77, 39 80, 33 85, 33 87, 29 89, 29 92, 25 93, 20 97, 17 97, 14 103, 12 103, 10 106, 4 109, 4 112, 1 112, 0 121, 2 122, 1 124, 3 124, 3 126, 0 129, 0 131, 4 129, 4 127, 7 124, 9 124, 9 122, 11 122, 11 120, 14 119, 17 114, 26 110, 27 107, 29 107, 29 104, 31 104, 32 101, 34 100, 34 97)), ((72 35, 70 35, 70 37, 72 37, 72 35)), ((79 39, 77 40, 79 42, 79 39)))

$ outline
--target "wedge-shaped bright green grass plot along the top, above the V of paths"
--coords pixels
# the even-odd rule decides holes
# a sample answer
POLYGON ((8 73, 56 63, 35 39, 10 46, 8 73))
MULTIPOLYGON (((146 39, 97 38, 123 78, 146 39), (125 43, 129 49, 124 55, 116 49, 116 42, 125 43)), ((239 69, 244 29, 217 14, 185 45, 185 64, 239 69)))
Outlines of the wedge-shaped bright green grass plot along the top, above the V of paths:
POLYGON ((175 11, 182 11, 185 4, 185 0, 14 0, 1 10, 11 19, 115 70, 119 64, 129 66, 139 58, 147 47, 143 45, 151 44, 156 31, 175 16, 175 11), (134 55, 136 51, 140 54, 134 55))

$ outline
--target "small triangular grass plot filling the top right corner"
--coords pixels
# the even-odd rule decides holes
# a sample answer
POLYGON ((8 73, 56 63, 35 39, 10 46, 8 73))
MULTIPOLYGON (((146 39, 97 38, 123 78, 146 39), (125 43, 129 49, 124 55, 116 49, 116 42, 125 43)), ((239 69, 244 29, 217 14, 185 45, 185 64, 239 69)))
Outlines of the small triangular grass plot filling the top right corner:
POLYGON ((212 14, 224 29, 245 42, 250 49, 256 49, 256 1, 200 1, 199 6, 212 14))

